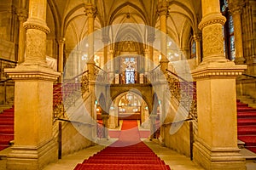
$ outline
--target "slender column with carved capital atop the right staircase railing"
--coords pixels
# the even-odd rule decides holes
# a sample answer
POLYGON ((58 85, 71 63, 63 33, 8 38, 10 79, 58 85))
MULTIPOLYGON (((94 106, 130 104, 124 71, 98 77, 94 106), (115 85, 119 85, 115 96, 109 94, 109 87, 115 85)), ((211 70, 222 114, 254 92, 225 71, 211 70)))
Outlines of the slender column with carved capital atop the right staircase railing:
POLYGON ((167 19, 167 13, 168 13, 168 4, 166 0, 161 1, 158 4, 158 13, 160 15, 160 54, 161 54, 161 59, 160 59, 160 69, 161 71, 165 72, 166 69, 168 68, 168 63, 169 60, 166 57, 167 54, 167 26, 166 26, 166 19, 167 19))

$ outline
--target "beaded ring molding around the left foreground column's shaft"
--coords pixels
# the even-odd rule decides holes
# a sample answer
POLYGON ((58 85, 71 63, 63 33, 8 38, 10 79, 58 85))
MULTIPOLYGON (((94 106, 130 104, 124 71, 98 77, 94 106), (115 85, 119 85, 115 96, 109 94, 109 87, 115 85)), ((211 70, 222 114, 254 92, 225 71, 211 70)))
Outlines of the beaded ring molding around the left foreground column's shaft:
POLYGON ((49 27, 46 25, 44 20, 28 18, 26 22, 24 22, 23 26, 24 28, 26 28, 26 30, 35 29, 39 31, 44 31, 46 34, 49 33, 49 27))

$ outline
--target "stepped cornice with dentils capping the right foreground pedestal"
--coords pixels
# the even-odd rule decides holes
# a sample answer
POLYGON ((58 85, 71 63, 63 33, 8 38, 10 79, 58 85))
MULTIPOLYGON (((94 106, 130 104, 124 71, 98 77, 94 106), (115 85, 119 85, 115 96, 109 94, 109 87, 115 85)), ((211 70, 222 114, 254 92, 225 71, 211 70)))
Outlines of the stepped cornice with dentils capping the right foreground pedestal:
POLYGON ((207 78, 236 78, 241 76, 242 72, 247 69, 247 65, 235 65, 233 62, 230 62, 226 65, 214 66, 199 66, 194 71, 192 71, 193 78, 198 79, 207 79, 207 78), (232 66, 230 66, 232 65, 232 66))

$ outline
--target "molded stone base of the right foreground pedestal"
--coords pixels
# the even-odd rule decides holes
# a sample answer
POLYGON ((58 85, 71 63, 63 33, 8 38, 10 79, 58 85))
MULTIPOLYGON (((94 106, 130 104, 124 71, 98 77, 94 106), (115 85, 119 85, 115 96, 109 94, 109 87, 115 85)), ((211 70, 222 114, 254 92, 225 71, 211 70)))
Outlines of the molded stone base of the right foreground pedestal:
POLYGON ((211 148, 202 141, 196 141, 193 150, 193 160, 205 169, 247 169, 245 159, 239 153, 238 148, 211 148))

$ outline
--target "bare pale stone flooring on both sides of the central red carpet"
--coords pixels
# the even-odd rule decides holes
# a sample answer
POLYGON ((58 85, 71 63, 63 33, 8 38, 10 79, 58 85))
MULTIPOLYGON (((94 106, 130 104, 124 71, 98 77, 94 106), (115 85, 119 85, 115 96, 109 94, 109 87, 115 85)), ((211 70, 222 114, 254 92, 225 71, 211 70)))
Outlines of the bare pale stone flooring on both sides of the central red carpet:
MULTIPOLYGON (((114 141, 114 139, 102 139, 100 144, 80 150, 68 156, 63 156, 61 160, 44 167, 44 170, 72 170, 78 163, 92 156, 97 151, 102 150, 104 147, 106 147, 106 145, 112 144, 114 141)), ((180 155, 176 151, 163 147, 155 141, 149 141, 148 139, 143 139, 143 141, 154 151, 155 154, 164 160, 166 164, 172 168, 172 170, 203 170, 203 168, 195 165, 193 161, 190 161, 189 157, 180 155)), ((5 152, 9 152, 9 150, 10 149, 5 150, 5 152)), ((248 156, 247 170, 255 170, 255 154, 248 152, 248 150, 241 150, 241 152, 242 154, 246 154, 248 156)), ((6 159, 0 160, 0 170, 6 169, 5 164, 6 159)))

